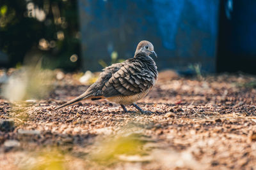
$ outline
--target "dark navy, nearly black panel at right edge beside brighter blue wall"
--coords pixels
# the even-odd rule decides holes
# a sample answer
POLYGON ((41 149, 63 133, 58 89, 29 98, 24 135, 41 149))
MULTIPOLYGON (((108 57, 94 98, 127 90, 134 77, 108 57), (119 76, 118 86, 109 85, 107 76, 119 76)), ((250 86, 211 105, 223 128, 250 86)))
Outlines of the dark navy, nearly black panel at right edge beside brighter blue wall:
POLYGON ((256 74, 256 1, 221 1, 219 25, 217 71, 256 74))

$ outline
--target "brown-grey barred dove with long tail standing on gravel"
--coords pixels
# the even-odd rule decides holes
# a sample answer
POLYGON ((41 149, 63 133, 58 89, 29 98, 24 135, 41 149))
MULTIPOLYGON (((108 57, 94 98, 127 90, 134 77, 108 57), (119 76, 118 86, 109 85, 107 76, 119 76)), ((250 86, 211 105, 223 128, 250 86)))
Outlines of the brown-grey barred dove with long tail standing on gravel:
POLYGON ((125 113, 127 112, 126 105, 134 106, 141 113, 150 112, 143 111, 135 103, 145 97, 157 81, 156 62, 150 55, 157 58, 152 43, 145 40, 140 41, 133 58, 105 67, 102 69, 98 80, 83 94, 55 110, 85 99, 92 101, 107 99, 110 102, 120 104, 125 113))

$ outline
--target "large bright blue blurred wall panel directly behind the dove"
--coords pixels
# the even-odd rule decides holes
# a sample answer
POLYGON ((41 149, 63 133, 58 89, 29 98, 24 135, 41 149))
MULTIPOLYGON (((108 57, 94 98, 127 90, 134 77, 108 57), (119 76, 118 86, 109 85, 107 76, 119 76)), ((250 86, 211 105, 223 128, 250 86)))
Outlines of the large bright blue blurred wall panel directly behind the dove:
POLYGON ((159 69, 216 69, 218 0, 79 0, 83 69, 99 71, 99 60, 133 57, 139 41, 151 41, 159 69))

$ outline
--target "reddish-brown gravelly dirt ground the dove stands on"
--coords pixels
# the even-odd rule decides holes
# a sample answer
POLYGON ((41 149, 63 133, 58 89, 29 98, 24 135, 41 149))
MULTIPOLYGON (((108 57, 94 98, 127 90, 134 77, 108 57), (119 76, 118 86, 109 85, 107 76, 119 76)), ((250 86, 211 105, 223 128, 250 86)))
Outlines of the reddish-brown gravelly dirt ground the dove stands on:
POLYGON ((0 169, 256 169, 256 78, 159 74, 138 101, 54 111, 88 85, 65 74, 44 100, 0 101, 0 169))

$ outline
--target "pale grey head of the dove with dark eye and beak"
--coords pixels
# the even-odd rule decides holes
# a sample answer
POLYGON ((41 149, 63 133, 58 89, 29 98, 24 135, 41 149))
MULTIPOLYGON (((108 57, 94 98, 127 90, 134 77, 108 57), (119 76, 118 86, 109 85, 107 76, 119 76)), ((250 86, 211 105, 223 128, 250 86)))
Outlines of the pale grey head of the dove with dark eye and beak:
POLYGON ((157 57, 156 52, 154 52, 154 46, 149 41, 140 41, 136 48, 135 56, 137 53, 145 53, 145 55, 154 55, 157 57))

